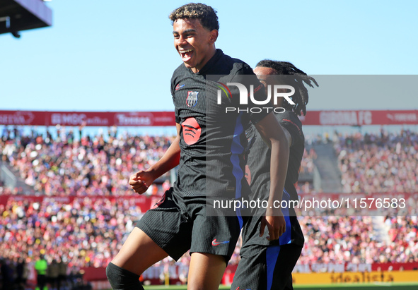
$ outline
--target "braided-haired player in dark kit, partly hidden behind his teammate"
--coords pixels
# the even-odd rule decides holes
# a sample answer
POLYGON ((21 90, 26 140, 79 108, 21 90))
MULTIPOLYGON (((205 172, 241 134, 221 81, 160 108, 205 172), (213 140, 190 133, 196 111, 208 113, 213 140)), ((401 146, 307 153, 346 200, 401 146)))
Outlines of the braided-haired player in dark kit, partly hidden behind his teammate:
MULTIPOLYGON (((279 239, 271 241, 265 234, 266 218, 264 212, 255 210, 253 215, 244 217, 243 246, 240 250, 241 260, 233 278, 231 289, 279 290, 293 289, 291 272, 303 248, 303 233, 296 218, 294 207, 289 200, 298 200, 295 183, 305 148, 302 123, 298 115, 306 114, 308 90, 304 83, 313 87, 318 85, 315 79, 306 75, 293 64, 286 61, 260 61, 254 69, 257 78, 272 90, 274 85, 290 85, 294 88, 291 96, 294 104, 279 99, 275 107, 284 111, 274 114, 283 127, 289 143, 289 165, 281 206, 286 220, 286 231, 279 239)), ((270 92, 271 93, 271 92, 270 92)), ((250 127, 247 130, 249 139, 248 176, 250 176, 250 200, 268 200, 270 183, 270 149, 265 145, 262 136, 250 127)))

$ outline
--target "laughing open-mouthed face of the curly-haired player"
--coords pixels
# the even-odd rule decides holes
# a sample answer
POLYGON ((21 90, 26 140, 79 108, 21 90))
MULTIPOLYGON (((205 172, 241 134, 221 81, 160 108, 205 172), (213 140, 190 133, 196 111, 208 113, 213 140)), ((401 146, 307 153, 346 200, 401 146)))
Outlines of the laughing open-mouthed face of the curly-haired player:
POLYGON ((204 28, 199 19, 178 19, 173 23, 174 47, 187 68, 197 73, 215 54, 218 30, 204 28))

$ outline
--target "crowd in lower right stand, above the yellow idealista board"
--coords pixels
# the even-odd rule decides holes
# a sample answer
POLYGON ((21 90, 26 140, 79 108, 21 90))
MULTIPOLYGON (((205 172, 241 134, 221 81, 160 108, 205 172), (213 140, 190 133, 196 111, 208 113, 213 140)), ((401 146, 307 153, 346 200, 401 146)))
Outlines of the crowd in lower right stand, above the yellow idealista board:
POLYGON ((417 217, 387 217, 390 241, 378 241, 372 217, 298 217, 305 245, 298 263, 418 262, 417 217))

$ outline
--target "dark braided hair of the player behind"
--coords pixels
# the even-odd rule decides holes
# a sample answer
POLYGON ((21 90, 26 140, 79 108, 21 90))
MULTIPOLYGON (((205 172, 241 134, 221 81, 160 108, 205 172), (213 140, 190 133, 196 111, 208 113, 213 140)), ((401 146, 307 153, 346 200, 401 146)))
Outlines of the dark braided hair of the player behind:
MULTIPOLYGON (((292 101, 295 104, 289 104, 289 102, 284 102, 284 109, 291 109, 298 116, 303 112, 303 116, 306 115, 306 104, 308 104, 308 90, 306 89, 303 83, 306 83, 310 87, 314 87, 312 83, 318 87, 318 83, 315 78, 306 75, 303 71, 296 68, 293 64, 287 61, 272 61, 270 59, 263 59, 257 64, 258 67, 262 68, 272 68, 274 71, 277 71, 277 75, 293 75, 294 78, 291 78, 286 85, 292 85, 295 88, 294 95, 291 96, 292 101)), ((286 78, 286 81, 288 79, 286 78)))

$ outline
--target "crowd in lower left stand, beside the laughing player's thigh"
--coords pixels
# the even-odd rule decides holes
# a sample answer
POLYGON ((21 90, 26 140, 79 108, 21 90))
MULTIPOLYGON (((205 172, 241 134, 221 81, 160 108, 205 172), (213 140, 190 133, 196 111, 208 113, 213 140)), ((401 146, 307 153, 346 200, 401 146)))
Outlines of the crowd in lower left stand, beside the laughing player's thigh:
POLYGON ((26 258, 45 250, 50 259, 66 257, 77 267, 107 265, 142 215, 132 200, 89 198, 71 204, 10 201, 0 212, 1 257, 26 258))

